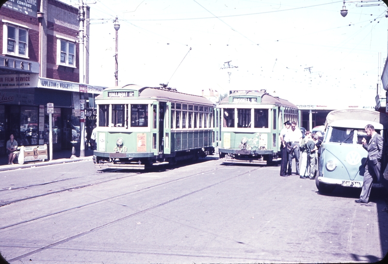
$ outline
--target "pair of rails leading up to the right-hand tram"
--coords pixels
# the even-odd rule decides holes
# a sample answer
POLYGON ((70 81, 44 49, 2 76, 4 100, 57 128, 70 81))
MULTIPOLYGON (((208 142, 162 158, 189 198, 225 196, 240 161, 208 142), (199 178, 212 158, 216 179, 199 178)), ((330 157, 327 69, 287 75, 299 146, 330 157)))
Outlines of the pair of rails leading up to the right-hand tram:
MULTIPOLYGON (((162 185, 169 184, 169 183, 171 183, 171 182, 186 180, 186 179, 191 178, 191 177, 194 177, 194 176, 199 176, 199 175, 203 175, 203 174, 205 174, 205 173, 210 173, 210 172, 212 172, 212 171, 214 171, 214 170, 223 169, 223 168, 225 168, 226 166, 229 166, 229 165, 224 165, 224 166, 220 166, 220 167, 213 168, 213 169, 210 169, 210 170, 201 171, 200 173, 195 173, 195 174, 191 174, 191 175, 188 175, 188 176, 185 176, 185 177, 180 177, 180 178, 178 178, 178 179, 174 179, 174 180, 171 180, 171 181, 162 182, 162 183, 159 183, 159 184, 155 184, 155 185, 152 185, 152 186, 148 186, 148 187, 145 187, 145 188, 136 190, 136 191, 131 191, 131 192, 128 192, 128 193, 125 193, 125 194, 121 194, 121 195, 117 195, 117 196, 114 196, 114 197, 101 199, 101 200, 99 200, 99 201, 95 201, 95 202, 92 202, 92 203, 84 204, 84 205, 77 206, 77 207, 74 207, 74 208, 69 208, 69 209, 66 209, 66 210, 62 210, 61 212, 56 212, 56 213, 53 213, 53 214, 47 214, 47 215, 42 216, 42 217, 37 217, 36 219, 30 219, 30 220, 27 220, 27 221, 23 221, 23 222, 20 222, 20 223, 16 223, 16 224, 13 224, 13 225, 9 225, 9 226, 7 226, 7 227, 1 227, 0 230, 6 229, 6 228, 9 228, 9 227, 12 227, 12 226, 16 226, 16 225, 19 225, 19 224, 22 224, 22 223, 31 222, 31 221, 33 221, 33 220, 41 219, 41 218, 44 218, 44 217, 49 217, 49 216, 54 215, 54 214, 60 214, 60 213, 68 212, 68 211, 70 211, 70 210, 78 209, 78 208, 81 208, 81 207, 86 207, 86 206, 88 206, 88 205, 96 204, 96 203, 99 203, 99 202, 102 202, 102 201, 106 201, 106 200, 110 200, 110 199, 114 199, 114 198, 118 198, 118 197, 123 197, 123 196, 126 196, 126 195, 130 195, 130 194, 133 194, 133 193, 141 192, 141 191, 144 191, 144 190, 147 190, 147 189, 151 189, 151 188, 155 188, 155 187, 160 187, 160 186, 162 186, 162 185)), ((238 177, 241 177, 241 176, 243 176, 243 175, 252 173, 252 171, 259 170, 259 169, 262 169, 262 168, 263 168, 263 167, 255 167, 253 170, 249 170, 249 171, 247 171, 247 172, 243 172, 243 173, 241 173, 241 174, 234 175, 234 176, 232 176, 232 177, 228 177, 228 178, 226 178, 226 179, 224 179, 224 180, 217 181, 217 182, 212 183, 212 184, 210 184, 210 185, 206 185, 206 186, 204 186, 204 187, 202 187, 202 188, 199 188, 199 189, 196 189, 196 190, 194 190, 194 191, 192 191, 192 192, 188 192, 188 193, 182 194, 182 195, 180 195, 180 196, 178 196, 178 197, 175 197, 175 198, 172 198, 172 199, 165 200, 165 201, 160 202, 160 203, 158 203, 158 204, 156 204, 156 205, 150 206, 150 207, 148 207, 148 208, 146 208, 146 209, 140 210, 140 211, 135 212, 135 213, 132 213, 132 214, 125 215, 125 216, 123 216, 123 217, 121 217, 121 218, 118 218, 118 219, 115 219, 115 220, 113 220, 113 221, 110 221, 110 222, 101 224, 101 225, 99 225, 99 226, 97 226, 97 227, 94 227, 94 228, 91 228, 91 229, 89 229, 89 230, 86 230, 86 231, 83 231, 83 232, 79 232, 78 234, 75 234, 75 235, 69 236, 69 237, 67 237, 67 238, 61 239, 61 240, 59 240, 59 241, 50 243, 50 244, 47 245, 47 246, 37 248, 37 249, 35 249, 35 250, 32 250, 32 251, 30 251, 30 252, 27 252, 27 253, 25 253, 25 254, 23 254, 23 255, 17 256, 17 257, 15 257, 15 258, 13 258, 13 259, 10 259, 10 260, 8 260, 8 261, 17 261, 17 260, 21 260, 22 258, 27 257, 27 256, 29 256, 29 255, 38 253, 38 252, 40 252, 40 251, 43 251, 43 250, 48 249, 48 248, 51 248, 51 247, 55 247, 55 246, 61 245, 61 244, 63 244, 63 243, 66 243, 66 242, 68 242, 68 241, 70 241, 70 240, 73 240, 73 239, 76 239, 76 238, 78 238, 78 237, 84 236, 84 235, 89 234, 89 233, 91 233, 91 232, 94 232, 94 231, 98 231, 98 230, 104 229, 104 228, 106 228, 106 227, 109 227, 109 226, 111 226, 111 225, 113 225, 113 224, 116 224, 116 223, 118 223, 118 222, 127 220, 127 219, 129 219, 129 218, 131 218, 131 217, 134 217, 134 216, 136 216, 136 215, 144 214, 144 213, 146 213, 146 212, 149 212, 149 211, 151 211, 151 210, 160 208, 160 207, 162 207, 162 206, 164 206, 164 205, 167 205, 167 204, 169 204, 169 203, 172 203, 172 202, 174 202, 174 201, 180 200, 180 199, 182 199, 182 198, 186 198, 186 197, 191 196, 191 195, 193 195, 193 194, 196 194, 196 193, 198 193, 198 192, 204 191, 204 190, 206 190, 206 189, 209 189, 209 188, 211 188, 211 187, 214 187, 214 186, 219 185, 219 184, 221 184, 221 183, 224 183, 224 182, 226 182, 226 181, 231 181, 231 180, 236 179, 236 178, 238 178, 238 177)))

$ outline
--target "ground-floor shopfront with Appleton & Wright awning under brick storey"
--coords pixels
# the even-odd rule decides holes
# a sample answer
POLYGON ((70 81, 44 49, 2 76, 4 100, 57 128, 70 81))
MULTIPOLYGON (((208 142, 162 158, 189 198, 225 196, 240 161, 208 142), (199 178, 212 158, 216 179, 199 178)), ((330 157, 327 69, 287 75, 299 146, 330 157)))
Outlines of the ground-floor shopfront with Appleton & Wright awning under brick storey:
POLYGON ((95 124, 94 98, 102 90, 100 86, 39 78, 37 74, 1 75, 0 154, 5 155, 11 133, 19 146, 49 144, 47 103, 54 104, 53 151, 71 149, 70 142, 80 140, 81 111, 86 109, 86 125, 95 124), (20 85, 21 78, 30 81, 20 85), (17 86, 12 83, 16 80, 17 86))

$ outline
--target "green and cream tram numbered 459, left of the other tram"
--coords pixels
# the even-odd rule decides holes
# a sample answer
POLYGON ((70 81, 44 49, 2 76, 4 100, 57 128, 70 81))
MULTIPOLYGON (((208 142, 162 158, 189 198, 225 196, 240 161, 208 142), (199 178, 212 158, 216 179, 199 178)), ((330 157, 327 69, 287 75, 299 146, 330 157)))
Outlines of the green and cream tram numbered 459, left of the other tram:
POLYGON ((166 87, 107 88, 96 98, 95 167, 144 169, 214 153, 215 105, 166 87))

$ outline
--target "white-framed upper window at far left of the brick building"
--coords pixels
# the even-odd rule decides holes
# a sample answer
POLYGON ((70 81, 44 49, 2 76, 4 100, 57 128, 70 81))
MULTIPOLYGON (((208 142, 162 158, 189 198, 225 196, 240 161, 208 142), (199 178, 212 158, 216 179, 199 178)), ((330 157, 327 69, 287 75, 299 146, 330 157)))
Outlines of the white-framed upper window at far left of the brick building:
POLYGON ((28 27, 7 20, 3 22, 3 54, 28 59, 28 27))

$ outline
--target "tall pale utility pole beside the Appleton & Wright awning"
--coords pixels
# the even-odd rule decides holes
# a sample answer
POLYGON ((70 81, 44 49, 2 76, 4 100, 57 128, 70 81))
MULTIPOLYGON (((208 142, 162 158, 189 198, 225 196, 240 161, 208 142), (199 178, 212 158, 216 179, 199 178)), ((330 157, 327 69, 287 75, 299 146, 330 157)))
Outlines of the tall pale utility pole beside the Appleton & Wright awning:
MULTIPOLYGON (((84 62, 84 27, 85 27, 85 10, 83 0, 80 0, 80 83, 85 83, 85 62, 84 62)), ((84 102, 83 92, 80 92, 81 101, 84 102)), ((82 104, 82 103, 81 103, 82 104)), ((85 107, 81 105, 81 117, 80 117, 80 132, 81 132, 81 142, 80 142, 80 157, 85 156, 85 107)))

